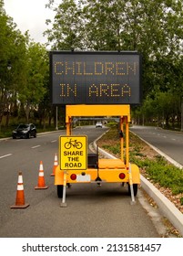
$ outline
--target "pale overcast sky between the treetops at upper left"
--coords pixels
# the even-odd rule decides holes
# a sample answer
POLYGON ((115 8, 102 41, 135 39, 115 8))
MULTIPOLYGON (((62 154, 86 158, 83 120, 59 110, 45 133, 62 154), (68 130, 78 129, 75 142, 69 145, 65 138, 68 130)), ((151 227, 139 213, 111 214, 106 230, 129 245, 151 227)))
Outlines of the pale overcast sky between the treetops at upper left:
POLYGON ((4 3, 6 14, 13 17, 23 34, 29 30, 35 42, 46 43, 46 37, 43 37, 47 28, 46 19, 55 15, 45 6, 48 0, 4 0, 4 3))

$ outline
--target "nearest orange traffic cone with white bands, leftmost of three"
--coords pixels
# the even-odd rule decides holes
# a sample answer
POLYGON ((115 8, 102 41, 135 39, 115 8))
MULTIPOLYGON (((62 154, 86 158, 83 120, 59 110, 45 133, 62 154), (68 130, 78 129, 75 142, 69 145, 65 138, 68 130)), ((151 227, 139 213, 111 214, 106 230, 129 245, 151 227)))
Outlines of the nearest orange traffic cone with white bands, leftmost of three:
POLYGON ((11 206, 10 208, 27 208, 28 206, 29 204, 25 204, 25 193, 22 172, 19 172, 15 205, 11 206))

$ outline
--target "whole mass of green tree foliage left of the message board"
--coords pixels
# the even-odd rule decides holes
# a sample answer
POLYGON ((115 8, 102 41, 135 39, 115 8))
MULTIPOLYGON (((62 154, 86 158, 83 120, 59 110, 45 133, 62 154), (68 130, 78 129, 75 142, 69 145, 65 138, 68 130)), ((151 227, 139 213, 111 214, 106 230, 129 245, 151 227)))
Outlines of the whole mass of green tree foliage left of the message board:
POLYGON ((48 84, 49 63, 46 47, 34 43, 27 32, 16 29, 0 2, 0 126, 10 115, 26 117, 43 101, 48 84), (10 67, 11 69, 7 69, 10 67))

